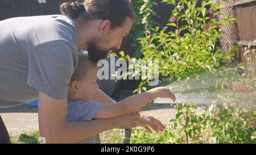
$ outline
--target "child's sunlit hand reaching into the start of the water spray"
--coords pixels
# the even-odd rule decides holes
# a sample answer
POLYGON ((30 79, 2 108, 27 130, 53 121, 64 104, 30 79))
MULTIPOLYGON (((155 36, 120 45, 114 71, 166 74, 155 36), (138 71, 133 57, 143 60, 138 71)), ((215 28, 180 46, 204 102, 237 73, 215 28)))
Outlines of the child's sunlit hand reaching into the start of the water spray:
POLYGON ((175 95, 171 92, 168 87, 155 87, 154 89, 149 90, 159 98, 170 98, 174 102, 176 100, 175 95))

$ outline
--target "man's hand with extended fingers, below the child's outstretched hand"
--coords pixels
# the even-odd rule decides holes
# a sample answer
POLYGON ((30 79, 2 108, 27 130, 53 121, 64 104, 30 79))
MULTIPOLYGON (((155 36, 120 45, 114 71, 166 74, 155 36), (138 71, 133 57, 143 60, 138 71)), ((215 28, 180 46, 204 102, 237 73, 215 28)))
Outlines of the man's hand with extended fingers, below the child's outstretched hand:
POLYGON ((141 116, 141 118, 137 119, 137 125, 145 128, 150 133, 152 133, 152 131, 149 127, 153 128, 156 132, 163 132, 166 128, 158 119, 151 116, 141 116))

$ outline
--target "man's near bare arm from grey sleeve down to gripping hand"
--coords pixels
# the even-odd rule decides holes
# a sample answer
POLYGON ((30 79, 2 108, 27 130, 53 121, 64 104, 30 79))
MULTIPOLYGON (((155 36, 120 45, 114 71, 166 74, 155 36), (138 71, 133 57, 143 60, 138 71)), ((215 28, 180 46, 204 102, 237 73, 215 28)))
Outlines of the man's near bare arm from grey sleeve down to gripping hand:
POLYGON ((67 100, 39 92, 39 129, 46 143, 76 143, 113 128, 133 128, 139 114, 90 122, 67 122, 67 100))

